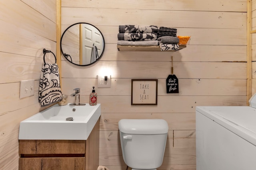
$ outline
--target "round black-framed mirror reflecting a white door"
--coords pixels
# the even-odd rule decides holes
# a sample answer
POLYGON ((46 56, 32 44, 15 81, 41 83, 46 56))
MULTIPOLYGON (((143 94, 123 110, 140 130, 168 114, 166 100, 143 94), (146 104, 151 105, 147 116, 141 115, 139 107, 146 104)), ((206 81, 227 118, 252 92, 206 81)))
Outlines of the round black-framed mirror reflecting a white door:
POLYGON ((102 57, 105 40, 98 28, 90 23, 74 23, 62 34, 60 50, 71 63, 88 66, 102 57))

